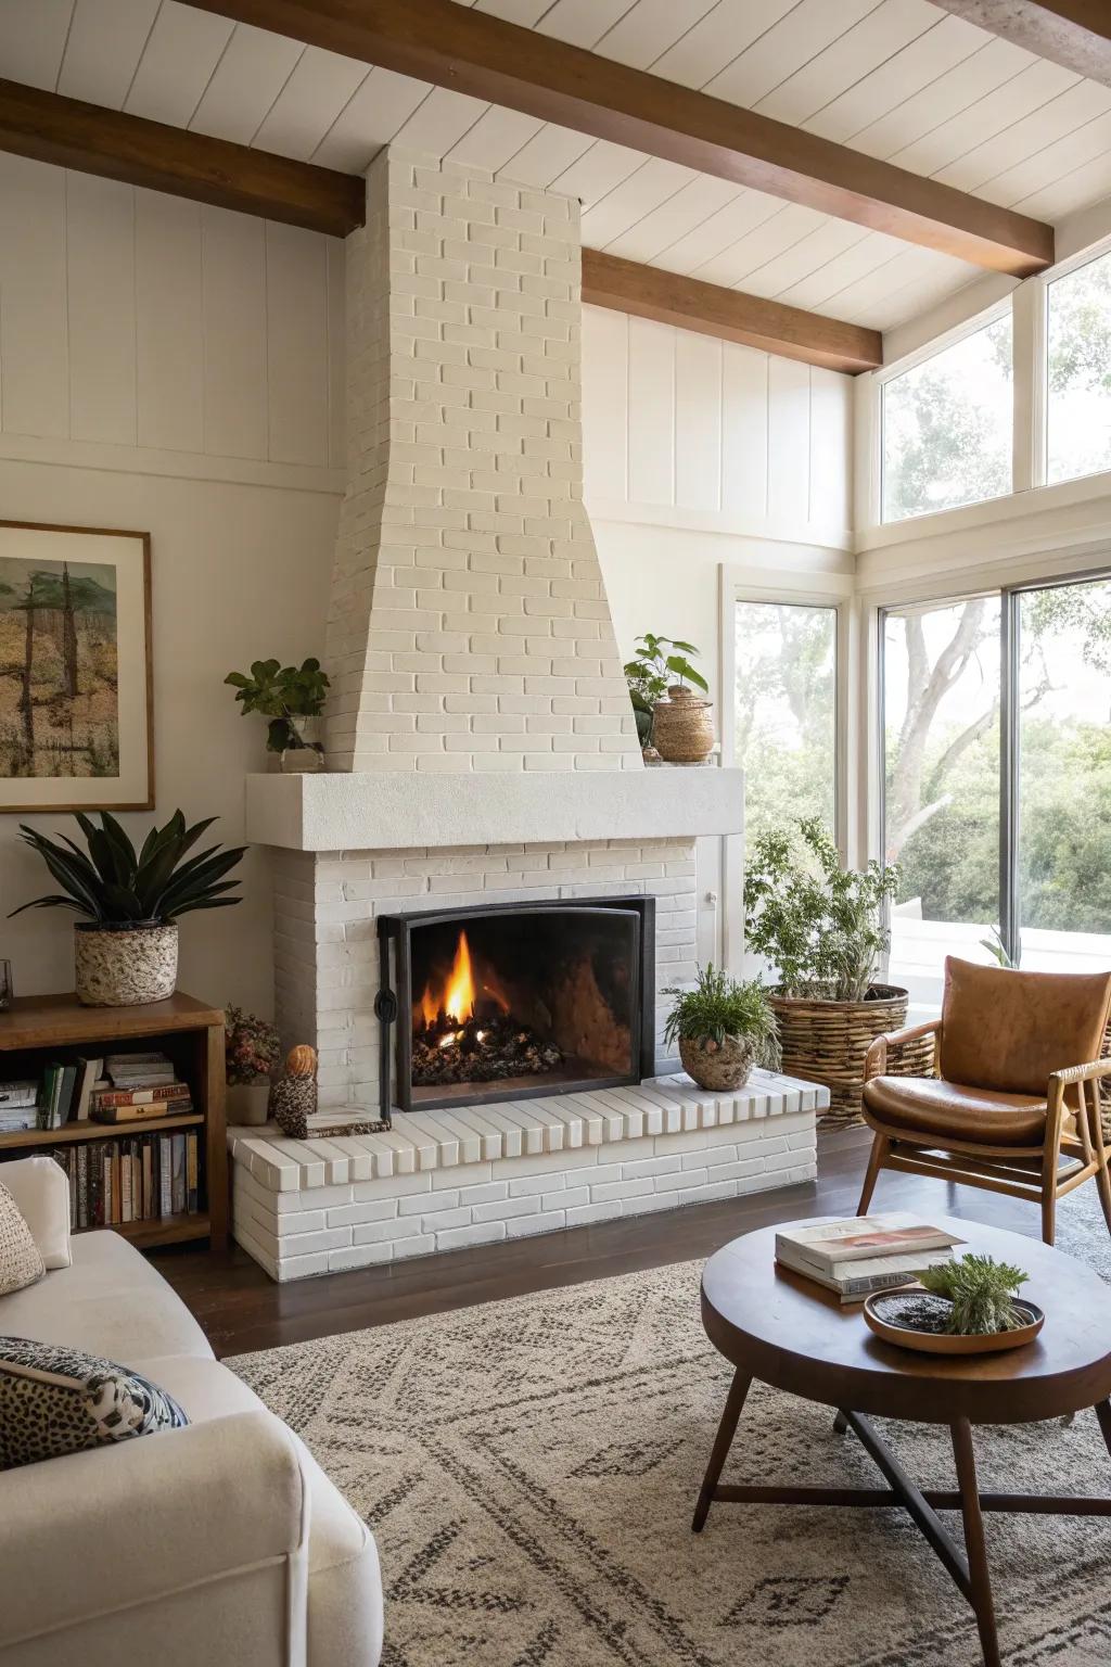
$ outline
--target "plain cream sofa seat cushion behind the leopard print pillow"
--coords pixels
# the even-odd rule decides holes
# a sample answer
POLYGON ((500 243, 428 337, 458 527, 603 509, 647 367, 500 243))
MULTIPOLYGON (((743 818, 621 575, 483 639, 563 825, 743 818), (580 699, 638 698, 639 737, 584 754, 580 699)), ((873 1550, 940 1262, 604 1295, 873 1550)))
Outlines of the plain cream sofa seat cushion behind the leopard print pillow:
POLYGON ((77 1234, 70 1267, 0 1297, 0 1332, 68 1344, 110 1360, 170 1354, 212 1359, 188 1309, 118 1234, 77 1234))

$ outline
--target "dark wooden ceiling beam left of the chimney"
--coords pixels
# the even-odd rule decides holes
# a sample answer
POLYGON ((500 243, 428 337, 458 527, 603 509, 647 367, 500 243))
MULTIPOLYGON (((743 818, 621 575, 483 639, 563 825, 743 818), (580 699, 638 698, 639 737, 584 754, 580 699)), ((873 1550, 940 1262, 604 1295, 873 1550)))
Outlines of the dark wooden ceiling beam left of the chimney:
POLYGON ((360 225, 361 178, 143 117, 0 82, 0 150, 175 197, 345 237, 360 225))

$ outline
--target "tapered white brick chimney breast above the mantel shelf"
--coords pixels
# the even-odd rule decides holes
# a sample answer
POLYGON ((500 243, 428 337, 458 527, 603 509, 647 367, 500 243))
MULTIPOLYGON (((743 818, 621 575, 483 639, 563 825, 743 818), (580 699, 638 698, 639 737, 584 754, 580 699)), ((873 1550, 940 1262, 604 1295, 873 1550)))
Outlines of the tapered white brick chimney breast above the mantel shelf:
POLYGON ((641 768, 583 508, 580 212, 383 152, 346 242, 340 770, 641 768))

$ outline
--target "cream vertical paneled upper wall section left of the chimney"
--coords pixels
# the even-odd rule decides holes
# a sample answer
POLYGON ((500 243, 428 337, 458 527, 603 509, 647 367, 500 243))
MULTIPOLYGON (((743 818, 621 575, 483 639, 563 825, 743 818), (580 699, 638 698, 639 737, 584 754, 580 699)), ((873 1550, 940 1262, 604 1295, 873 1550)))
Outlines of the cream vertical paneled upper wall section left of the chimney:
POLYGON ((341 467, 343 245, 0 155, 0 433, 341 467))

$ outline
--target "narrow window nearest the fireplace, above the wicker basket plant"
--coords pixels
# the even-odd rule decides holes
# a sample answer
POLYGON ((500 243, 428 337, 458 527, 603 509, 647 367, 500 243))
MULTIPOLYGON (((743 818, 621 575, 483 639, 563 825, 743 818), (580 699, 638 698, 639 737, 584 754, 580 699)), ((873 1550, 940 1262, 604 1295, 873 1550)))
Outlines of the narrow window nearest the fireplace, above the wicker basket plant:
POLYGON ((736 603, 736 763, 750 840, 770 827, 836 812, 838 610, 736 603))

